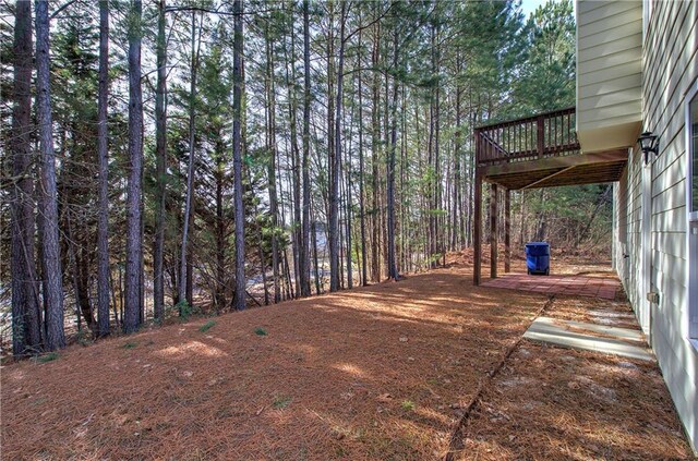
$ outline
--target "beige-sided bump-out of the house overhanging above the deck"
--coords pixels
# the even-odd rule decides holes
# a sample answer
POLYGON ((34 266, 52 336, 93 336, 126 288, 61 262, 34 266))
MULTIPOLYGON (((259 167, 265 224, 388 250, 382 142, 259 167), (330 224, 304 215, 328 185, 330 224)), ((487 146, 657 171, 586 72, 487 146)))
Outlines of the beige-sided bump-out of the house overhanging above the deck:
POLYGON ((633 146, 641 117, 641 1, 577 4, 577 132, 585 151, 633 146))

